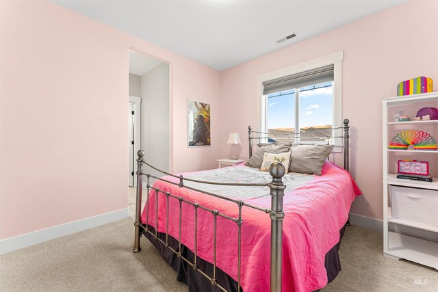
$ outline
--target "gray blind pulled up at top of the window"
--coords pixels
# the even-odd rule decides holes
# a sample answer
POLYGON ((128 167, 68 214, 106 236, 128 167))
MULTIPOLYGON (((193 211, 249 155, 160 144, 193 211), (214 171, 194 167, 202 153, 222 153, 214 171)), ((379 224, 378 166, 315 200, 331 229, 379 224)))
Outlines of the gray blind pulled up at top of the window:
POLYGON ((324 66, 263 82, 263 95, 333 81, 334 66, 324 66))

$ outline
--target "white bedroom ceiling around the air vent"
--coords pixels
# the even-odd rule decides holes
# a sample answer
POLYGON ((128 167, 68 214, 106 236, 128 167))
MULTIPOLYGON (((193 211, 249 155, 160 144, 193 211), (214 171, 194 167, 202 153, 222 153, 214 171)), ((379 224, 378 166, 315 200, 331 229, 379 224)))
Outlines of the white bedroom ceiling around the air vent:
POLYGON ((51 0, 225 70, 407 0, 51 0), (296 32, 297 37, 276 43, 296 32))

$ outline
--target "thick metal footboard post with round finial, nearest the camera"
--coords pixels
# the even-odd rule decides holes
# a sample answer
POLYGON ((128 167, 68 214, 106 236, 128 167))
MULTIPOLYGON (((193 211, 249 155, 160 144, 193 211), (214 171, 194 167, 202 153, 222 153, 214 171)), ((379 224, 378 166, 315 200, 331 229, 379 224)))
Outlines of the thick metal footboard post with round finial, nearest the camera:
POLYGON ((271 274, 270 291, 281 291, 281 256, 283 243, 283 196, 286 186, 283 184, 282 177, 285 175, 285 167, 279 162, 274 162, 269 167, 272 181, 269 183, 271 196, 271 274))

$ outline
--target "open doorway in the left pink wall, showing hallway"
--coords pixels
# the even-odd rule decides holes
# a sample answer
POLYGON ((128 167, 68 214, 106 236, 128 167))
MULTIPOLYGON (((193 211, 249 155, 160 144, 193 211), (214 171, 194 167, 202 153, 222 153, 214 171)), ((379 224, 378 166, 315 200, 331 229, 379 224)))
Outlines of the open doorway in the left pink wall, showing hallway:
MULTIPOLYGON (((134 209, 137 184, 137 152, 145 161, 170 171, 170 65, 129 50, 129 209, 134 209)), ((147 172, 161 176, 150 169, 147 172)), ((151 183, 153 181, 151 180, 151 183)), ((146 198, 146 196, 144 196, 146 198)))

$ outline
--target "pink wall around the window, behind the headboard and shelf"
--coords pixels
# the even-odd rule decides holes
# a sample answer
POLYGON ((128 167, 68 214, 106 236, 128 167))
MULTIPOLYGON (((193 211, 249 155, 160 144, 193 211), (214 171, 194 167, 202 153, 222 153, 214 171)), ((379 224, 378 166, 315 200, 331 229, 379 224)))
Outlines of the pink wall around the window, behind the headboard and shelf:
MULTIPOLYGON (((222 122, 221 139, 233 131, 246 137, 248 124, 257 125, 257 75, 343 50, 350 171, 363 191, 352 213, 382 219, 382 98, 395 96, 403 80, 427 76, 438 81, 437 15, 438 1, 410 1, 222 72, 221 107, 229 118, 222 122)), ((246 157, 247 143, 242 148, 240 157, 246 157)), ((229 151, 224 145, 221 155, 229 151)))

